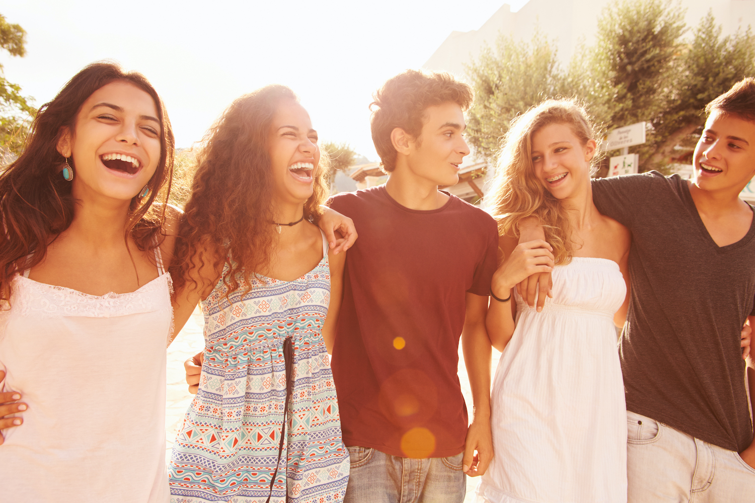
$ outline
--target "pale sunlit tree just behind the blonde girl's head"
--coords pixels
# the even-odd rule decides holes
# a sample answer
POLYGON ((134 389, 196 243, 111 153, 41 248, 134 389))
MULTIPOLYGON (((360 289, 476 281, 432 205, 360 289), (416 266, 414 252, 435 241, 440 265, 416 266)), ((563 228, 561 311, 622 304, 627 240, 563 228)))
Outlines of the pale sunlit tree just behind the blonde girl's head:
POLYGON ((467 134, 477 152, 492 158, 511 119, 529 107, 565 90, 556 48, 541 33, 531 43, 501 35, 495 51, 483 48, 467 66, 475 100, 468 114, 467 134))

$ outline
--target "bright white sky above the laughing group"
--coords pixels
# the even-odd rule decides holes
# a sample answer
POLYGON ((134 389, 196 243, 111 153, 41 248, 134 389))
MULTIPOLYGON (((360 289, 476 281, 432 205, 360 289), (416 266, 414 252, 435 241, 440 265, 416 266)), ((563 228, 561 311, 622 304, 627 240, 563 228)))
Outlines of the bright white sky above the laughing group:
POLYGON ((526 2, 24 0, 0 14, 26 29, 26 57, 3 52, 0 63, 39 106, 87 63, 118 60, 152 81, 179 147, 200 140, 239 95, 286 84, 321 140, 350 143, 377 161, 374 90, 420 68, 452 31, 479 29, 504 3, 516 11, 526 2))

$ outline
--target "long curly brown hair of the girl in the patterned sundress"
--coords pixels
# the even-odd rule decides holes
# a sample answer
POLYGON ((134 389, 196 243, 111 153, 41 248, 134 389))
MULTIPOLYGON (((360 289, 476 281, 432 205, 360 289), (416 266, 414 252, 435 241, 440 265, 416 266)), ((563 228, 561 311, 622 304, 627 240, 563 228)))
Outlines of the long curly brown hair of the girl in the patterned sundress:
MULTIPOLYGON (((192 272, 225 262, 227 292, 251 290, 251 275, 270 264, 273 252, 273 169, 268 137, 283 100, 298 98, 282 85, 269 85, 237 98, 205 134, 197 155, 192 195, 180 221, 171 275, 178 293, 196 285, 192 272)), ((328 197, 327 156, 313 173, 313 195, 304 218, 317 222, 328 197)))

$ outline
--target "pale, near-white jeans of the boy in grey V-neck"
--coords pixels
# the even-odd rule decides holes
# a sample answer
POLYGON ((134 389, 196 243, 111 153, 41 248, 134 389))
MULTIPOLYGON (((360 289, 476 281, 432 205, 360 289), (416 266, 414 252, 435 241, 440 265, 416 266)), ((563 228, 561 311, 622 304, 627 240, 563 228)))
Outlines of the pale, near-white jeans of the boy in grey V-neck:
POLYGON ((755 499, 755 469, 739 454, 627 411, 629 503, 755 499))

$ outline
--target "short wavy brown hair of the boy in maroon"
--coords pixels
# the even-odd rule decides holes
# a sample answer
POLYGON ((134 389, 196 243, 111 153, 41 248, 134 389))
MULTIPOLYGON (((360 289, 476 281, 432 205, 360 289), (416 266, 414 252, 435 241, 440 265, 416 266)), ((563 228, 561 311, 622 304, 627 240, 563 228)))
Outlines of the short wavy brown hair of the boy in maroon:
POLYGON ((461 109, 469 109, 473 100, 472 88, 445 72, 420 72, 406 70, 389 78, 383 87, 372 96, 372 142, 381 167, 386 173, 396 168, 396 149, 390 141, 390 133, 400 127, 415 139, 422 133, 424 111, 428 106, 442 103, 458 103, 461 109))

